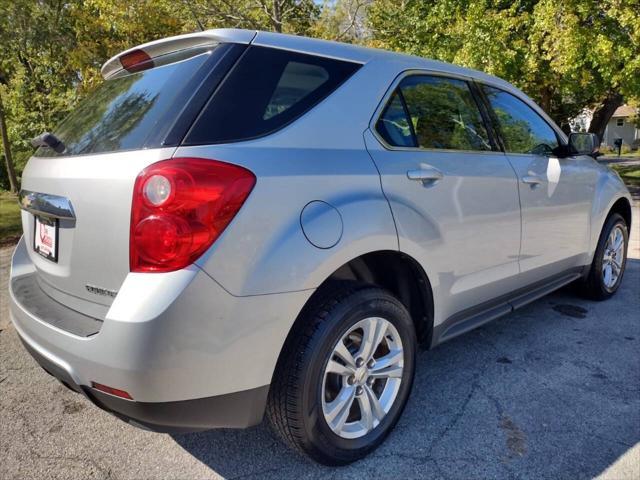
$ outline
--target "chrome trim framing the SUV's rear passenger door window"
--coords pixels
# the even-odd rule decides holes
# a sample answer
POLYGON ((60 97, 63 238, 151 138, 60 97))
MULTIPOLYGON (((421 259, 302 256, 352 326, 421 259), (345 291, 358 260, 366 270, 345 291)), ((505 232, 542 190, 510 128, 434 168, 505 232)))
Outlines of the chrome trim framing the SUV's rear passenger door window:
MULTIPOLYGON (((371 131, 373 136, 376 138, 376 140, 378 140, 378 142, 380 142, 380 145, 382 145, 385 150, 399 151, 399 152, 405 152, 405 151, 406 152, 434 152, 434 153, 443 152, 443 153, 473 153, 473 154, 485 154, 485 155, 486 154, 492 154, 492 155, 503 154, 504 155, 504 152, 502 152, 501 150, 458 150, 458 149, 451 149, 451 148, 396 147, 394 145, 389 145, 385 141, 385 139, 382 138, 382 135, 380 135, 378 133, 378 130, 376 129, 376 124, 378 123, 378 120, 380 120, 380 117, 384 113, 384 111, 385 111, 385 109, 387 107, 387 104, 391 100, 391 96, 393 95, 393 92, 396 91, 396 89, 398 88, 398 85, 400 85, 400 83, 405 78, 410 77, 410 76, 443 77, 443 78, 450 78, 450 79, 453 79, 453 80, 463 80, 465 82, 474 82, 475 81, 475 79, 473 77, 469 77, 467 75, 460 75, 460 74, 457 74, 457 73, 443 72, 443 71, 440 71, 440 70, 411 68, 411 69, 404 70, 404 71, 400 72, 398 74, 398 76, 393 80, 393 82, 391 82, 391 85, 389 86, 389 88, 385 92, 384 96, 382 97, 382 100, 380 101, 380 103, 376 107, 375 111, 373 112, 371 120, 369 121, 369 130, 371 131)), ((471 88, 469 88, 469 93, 471 93, 472 96, 474 95, 474 93, 471 91, 471 88)), ((482 112, 480 112, 480 107, 478 107, 478 113, 482 117, 482 112)), ((485 122, 484 117, 482 118, 482 122, 484 124, 484 122, 485 122)), ((486 126, 485 126, 485 128, 486 128, 486 126)))

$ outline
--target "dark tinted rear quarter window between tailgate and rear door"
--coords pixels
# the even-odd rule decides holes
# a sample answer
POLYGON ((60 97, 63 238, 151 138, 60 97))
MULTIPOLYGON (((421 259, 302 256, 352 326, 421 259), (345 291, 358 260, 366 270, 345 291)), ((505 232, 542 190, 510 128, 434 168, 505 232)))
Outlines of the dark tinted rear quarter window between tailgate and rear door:
POLYGON ((324 57, 249 47, 188 133, 185 145, 267 135, 299 118, 360 68, 324 57))

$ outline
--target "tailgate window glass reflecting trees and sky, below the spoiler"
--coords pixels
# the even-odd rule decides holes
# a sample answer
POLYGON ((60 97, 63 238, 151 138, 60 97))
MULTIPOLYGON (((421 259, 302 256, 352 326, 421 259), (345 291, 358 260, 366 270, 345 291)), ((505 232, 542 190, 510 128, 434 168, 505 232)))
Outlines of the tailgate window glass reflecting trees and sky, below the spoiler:
POLYGON ((160 146, 158 129, 175 120, 193 93, 186 91, 189 79, 210 56, 211 52, 202 53, 106 80, 54 130, 65 151, 60 154, 41 147, 36 155, 88 155, 160 146))

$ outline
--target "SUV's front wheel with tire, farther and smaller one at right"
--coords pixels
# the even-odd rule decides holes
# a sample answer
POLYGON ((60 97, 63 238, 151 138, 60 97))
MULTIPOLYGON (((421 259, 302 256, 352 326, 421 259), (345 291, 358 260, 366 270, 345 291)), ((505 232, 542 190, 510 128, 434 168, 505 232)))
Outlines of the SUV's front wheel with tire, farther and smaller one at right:
POLYGON ((602 228, 589 275, 580 284, 583 296, 591 300, 606 300, 618 291, 627 265, 628 245, 627 222, 614 213, 602 228), (618 245, 619 241, 621 245, 618 245))

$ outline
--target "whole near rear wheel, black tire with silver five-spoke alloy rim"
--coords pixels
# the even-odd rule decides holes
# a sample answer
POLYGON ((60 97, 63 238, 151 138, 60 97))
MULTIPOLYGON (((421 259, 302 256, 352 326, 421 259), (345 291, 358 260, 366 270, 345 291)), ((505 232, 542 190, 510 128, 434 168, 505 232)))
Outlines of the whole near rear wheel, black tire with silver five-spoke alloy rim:
POLYGON ((325 465, 366 456, 411 392, 416 335, 391 293, 342 284, 313 301, 284 347, 267 416, 290 446, 325 465))

